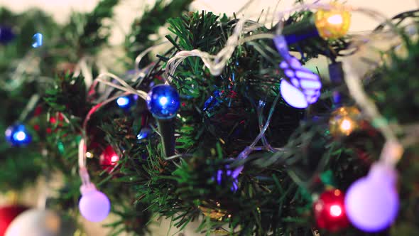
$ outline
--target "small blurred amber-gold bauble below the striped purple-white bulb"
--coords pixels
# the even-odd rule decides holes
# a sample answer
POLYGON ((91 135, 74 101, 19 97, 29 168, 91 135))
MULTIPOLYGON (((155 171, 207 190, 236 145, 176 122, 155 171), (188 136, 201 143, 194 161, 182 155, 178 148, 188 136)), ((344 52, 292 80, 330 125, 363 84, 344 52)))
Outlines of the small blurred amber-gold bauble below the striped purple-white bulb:
POLYGON ((330 134, 335 137, 348 136, 359 129, 361 112, 357 107, 339 107, 332 112, 329 120, 330 134))

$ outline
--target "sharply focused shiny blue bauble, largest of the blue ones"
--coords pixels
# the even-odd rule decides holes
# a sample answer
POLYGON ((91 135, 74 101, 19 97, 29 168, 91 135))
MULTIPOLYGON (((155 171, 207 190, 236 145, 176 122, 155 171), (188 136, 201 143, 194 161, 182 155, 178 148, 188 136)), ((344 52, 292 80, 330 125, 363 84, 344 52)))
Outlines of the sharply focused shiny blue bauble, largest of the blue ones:
POLYGON ((175 117, 180 106, 178 91, 170 85, 156 85, 147 96, 148 110, 157 119, 175 117))

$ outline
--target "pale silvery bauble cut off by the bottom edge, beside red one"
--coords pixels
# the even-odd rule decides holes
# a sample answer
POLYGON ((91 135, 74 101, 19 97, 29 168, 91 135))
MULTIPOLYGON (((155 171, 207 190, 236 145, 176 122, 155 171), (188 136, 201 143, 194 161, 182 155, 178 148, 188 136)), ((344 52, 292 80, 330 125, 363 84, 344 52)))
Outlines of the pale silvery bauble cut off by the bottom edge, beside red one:
POLYGON ((73 236, 76 227, 51 210, 26 210, 11 222, 5 236, 73 236))

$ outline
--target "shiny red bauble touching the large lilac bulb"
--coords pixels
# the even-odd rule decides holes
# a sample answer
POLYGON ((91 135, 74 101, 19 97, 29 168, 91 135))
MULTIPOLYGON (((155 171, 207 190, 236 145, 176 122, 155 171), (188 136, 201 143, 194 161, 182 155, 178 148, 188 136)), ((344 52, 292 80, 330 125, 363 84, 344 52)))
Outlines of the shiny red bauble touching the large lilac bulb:
POLYGON ((348 227, 344 193, 339 189, 325 191, 313 205, 317 226, 332 232, 348 227))

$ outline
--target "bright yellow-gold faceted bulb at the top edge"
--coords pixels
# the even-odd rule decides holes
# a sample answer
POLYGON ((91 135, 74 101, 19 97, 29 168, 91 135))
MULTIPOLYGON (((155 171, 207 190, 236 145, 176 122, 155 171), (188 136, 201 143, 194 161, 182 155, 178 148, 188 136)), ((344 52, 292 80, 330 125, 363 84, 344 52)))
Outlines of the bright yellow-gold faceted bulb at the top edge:
POLYGON ((337 4, 332 4, 331 9, 320 9, 315 13, 315 26, 325 39, 342 38, 347 34, 350 24, 351 14, 337 4))

